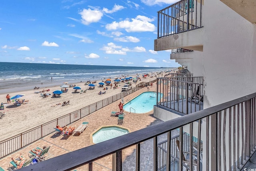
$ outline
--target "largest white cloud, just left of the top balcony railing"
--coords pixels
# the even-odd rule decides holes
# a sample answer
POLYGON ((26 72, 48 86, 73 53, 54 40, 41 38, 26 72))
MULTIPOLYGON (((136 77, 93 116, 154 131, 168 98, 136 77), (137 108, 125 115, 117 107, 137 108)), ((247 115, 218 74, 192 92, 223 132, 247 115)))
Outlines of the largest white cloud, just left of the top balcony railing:
POLYGON ((131 21, 126 19, 121 22, 112 22, 105 27, 108 30, 125 29, 127 32, 143 32, 143 31, 155 31, 156 26, 150 22, 154 21, 153 18, 146 16, 137 16, 132 18, 131 21))

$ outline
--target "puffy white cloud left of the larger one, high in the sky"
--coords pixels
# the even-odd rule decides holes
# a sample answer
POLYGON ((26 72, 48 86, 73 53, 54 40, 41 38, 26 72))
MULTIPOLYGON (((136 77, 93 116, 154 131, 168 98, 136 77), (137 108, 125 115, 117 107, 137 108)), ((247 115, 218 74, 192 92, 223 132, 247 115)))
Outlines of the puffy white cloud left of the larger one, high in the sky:
POLYGON ((79 12, 79 14, 82 17, 81 21, 82 21, 82 24, 84 25, 96 23, 100 21, 100 19, 103 16, 103 13, 100 10, 98 9, 91 10, 90 8, 88 10, 87 9, 82 10, 81 12, 79 12))

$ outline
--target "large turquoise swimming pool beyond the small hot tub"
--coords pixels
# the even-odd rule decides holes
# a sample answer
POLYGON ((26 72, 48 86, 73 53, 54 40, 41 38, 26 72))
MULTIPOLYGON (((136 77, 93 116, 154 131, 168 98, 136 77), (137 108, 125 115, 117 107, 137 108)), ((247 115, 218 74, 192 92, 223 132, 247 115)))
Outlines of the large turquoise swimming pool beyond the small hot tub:
MULTIPOLYGON (((158 96, 160 96, 160 93, 158 93, 158 96)), ((156 92, 143 92, 130 102, 127 102, 124 105, 124 110, 133 113, 147 113, 153 110, 154 105, 156 105, 156 92)))

